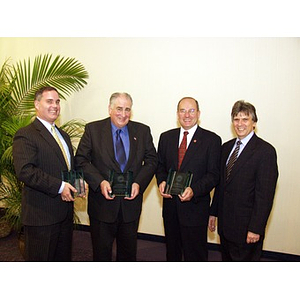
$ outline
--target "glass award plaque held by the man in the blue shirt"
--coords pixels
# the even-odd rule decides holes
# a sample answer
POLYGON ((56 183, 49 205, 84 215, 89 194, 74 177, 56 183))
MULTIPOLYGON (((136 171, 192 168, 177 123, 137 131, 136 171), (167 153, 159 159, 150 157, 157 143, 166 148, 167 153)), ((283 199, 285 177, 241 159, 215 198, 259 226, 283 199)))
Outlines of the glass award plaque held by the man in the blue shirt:
POLYGON ((133 173, 131 171, 126 173, 117 173, 110 171, 109 183, 112 188, 111 196, 130 197, 133 173))

